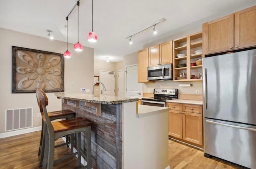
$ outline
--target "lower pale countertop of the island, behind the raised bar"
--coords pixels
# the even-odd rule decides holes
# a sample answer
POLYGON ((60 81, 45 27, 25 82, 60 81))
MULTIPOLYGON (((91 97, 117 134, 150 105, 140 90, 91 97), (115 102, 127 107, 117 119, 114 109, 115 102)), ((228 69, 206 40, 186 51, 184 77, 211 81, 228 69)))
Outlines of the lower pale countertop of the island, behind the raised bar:
POLYGON ((168 107, 158 107, 158 106, 147 106, 147 105, 138 105, 138 114, 136 116, 138 118, 144 117, 144 116, 149 116, 152 114, 157 114, 157 113, 162 113, 169 111, 170 108, 168 107))

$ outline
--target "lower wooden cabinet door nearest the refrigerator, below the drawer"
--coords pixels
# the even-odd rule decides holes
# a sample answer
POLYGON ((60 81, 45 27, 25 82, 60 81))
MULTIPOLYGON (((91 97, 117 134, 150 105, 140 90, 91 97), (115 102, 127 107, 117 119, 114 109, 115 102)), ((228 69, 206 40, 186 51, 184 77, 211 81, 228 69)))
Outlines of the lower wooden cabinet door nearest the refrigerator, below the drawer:
POLYGON ((203 145, 202 114, 182 112, 183 140, 203 145))

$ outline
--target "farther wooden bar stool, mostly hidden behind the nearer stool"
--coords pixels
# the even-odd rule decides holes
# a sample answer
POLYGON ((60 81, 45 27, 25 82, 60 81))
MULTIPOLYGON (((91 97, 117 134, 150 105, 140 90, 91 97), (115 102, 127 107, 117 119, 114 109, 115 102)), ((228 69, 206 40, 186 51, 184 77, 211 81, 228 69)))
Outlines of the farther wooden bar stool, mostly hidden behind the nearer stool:
MULTIPOLYGON (((69 118, 75 118, 76 117, 76 113, 72 112, 71 110, 59 110, 59 111, 54 111, 54 112, 48 112, 48 116, 50 118, 50 120, 56 120, 56 119, 69 119, 69 118)), ((42 119, 42 129, 41 129, 41 138, 40 138, 40 145, 39 145, 39 150, 38 150, 38 155, 41 155, 41 150, 42 150, 42 143, 43 140, 45 138, 45 131, 44 131, 44 120, 42 119)), ((61 145, 57 145, 56 147, 60 147, 62 145, 67 145, 69 144, 69 139, 68 139, 68 135, 66 136, 66 143, 61 144, 61 145)), ((71 145, 71 150, 73 150, 73 146, 71 145)), ((42 164, 42 163, 41 163, 42 164)), ((39 166, 41 167, 41 166, 39 166)))

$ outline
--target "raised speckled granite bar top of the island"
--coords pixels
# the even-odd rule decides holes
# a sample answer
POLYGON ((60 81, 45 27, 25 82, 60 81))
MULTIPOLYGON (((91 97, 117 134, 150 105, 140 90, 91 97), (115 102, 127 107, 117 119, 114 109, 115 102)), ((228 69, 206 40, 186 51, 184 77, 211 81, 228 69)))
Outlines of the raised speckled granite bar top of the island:
POLYGON ((135 102, 138 98, 125 98, 116 96, 94 96, 92 94, 83 93, 54 93, 58 98, 66 98, 68 100, 77 100, 82 102, 92 102, 101 104, 118 104, 123 102, 135 102))

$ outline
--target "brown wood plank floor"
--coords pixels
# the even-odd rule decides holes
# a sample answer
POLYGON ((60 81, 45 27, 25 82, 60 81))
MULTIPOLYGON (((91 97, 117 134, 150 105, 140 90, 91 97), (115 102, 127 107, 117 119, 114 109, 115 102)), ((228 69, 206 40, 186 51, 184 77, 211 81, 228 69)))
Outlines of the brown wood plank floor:
MULTIPOLYGON (((0 139, 0 169, 38 169, 40 132, 0 139)), ((56 141, 56 144, 62 140, 56 141)), ((55 149, 55 158, 69 154, 66 146, 55 149)), ((204 157, 204 153, 187 145, 169 140, 171 169, 238 169, 238 167, 204 157)), ((54 169, 76 169, 76 157, 54 164, 54 169)))

